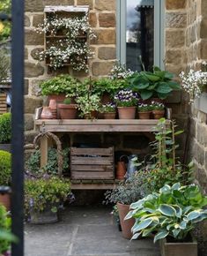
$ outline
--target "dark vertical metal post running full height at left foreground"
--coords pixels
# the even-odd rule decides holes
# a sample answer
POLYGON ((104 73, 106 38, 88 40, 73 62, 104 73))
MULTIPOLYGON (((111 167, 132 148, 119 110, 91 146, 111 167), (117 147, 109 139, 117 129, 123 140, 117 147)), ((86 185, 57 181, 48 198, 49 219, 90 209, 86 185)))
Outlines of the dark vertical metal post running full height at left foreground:
POLYGON ((11 5, 11 72, 12 72, 12 233, 18 244, 12 244, 11 255, 24 255, 24 0, 11 5))

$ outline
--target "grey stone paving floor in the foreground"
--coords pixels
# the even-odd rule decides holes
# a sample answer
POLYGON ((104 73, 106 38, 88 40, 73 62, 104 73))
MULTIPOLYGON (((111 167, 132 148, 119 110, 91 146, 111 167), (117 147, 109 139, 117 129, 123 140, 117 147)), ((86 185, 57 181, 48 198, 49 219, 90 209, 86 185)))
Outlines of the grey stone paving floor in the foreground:
POLYGON ((124 239, 110 211, 109 207, 69 207, 56 224, 26 224, 25 255, 159 256, 151 239, 124 239))

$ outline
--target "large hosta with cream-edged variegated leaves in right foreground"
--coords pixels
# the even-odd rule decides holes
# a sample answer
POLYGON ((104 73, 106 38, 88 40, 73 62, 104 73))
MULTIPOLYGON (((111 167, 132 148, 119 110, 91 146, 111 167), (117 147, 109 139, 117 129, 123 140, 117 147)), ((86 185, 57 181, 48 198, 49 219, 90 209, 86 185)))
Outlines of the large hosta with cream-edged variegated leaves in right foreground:
POLYGON ((181 186, 165 185, 142 200, 131 204, 132 209, 125 219, 134 217, 132 228, 136 239, 155 234, 154 242, 164 237, 184 240, 197 222, 207 219, 207 197, 194 184, 181 186))

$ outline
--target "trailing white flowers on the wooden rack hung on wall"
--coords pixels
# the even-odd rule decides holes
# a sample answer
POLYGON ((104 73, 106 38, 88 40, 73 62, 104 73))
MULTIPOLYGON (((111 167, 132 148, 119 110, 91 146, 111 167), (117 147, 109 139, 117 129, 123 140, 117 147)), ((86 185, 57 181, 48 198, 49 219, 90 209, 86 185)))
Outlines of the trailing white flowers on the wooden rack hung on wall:
POLYGON ((60 40, 46 41, 47 49, 38 53, 39 60, 46 59, 49 66, 54 69, 61 68, 64 64, 71 64, 73 70, 88 72, 88 58, 93 56, 87 40, 95 38, 92 27, 85 15, 82 18, 48 18, 37 26, 37 33, 45 33, 49 36, 61 35, 60 40))

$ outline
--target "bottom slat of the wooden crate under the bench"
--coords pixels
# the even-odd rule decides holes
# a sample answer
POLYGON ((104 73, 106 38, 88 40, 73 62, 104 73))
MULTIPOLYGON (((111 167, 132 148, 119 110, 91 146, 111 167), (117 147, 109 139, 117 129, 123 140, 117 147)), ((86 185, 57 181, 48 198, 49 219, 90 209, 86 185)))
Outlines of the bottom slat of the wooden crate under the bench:
POLYGON ((85 172, 85 171, 73 171, 71 172, 72 179, 111 179, 114 178, 112 172, 85 172))

